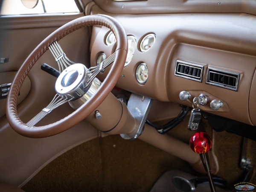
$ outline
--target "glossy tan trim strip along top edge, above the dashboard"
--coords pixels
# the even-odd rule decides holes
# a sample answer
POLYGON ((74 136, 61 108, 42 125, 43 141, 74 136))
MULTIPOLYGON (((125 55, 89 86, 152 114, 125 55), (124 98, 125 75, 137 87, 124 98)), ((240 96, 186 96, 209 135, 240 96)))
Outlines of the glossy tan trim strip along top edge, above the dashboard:
POLYGON ((256 15, 253 0, 94 0, 103 10, 115 14, 155 13, 248 13, 256 15))

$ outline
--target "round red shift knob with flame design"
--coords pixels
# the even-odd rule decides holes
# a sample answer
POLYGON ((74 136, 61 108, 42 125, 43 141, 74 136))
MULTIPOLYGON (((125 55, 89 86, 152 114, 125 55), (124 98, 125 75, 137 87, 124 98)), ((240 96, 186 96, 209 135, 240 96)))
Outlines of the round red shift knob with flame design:
POLYGON ((199 132, 192 135, 189 145, 195 153, 203 154, 212 148, 212 140, 207 133, 199 132))

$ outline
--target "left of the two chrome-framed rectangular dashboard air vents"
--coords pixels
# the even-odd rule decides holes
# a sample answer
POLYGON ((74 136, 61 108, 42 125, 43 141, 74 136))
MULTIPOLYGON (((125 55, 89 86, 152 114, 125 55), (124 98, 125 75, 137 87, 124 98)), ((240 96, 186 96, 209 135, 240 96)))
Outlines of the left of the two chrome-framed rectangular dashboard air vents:
POLYGON ((175 76, 202 82, 204 66, 188 63, 185 61, 176 61, 175 76))

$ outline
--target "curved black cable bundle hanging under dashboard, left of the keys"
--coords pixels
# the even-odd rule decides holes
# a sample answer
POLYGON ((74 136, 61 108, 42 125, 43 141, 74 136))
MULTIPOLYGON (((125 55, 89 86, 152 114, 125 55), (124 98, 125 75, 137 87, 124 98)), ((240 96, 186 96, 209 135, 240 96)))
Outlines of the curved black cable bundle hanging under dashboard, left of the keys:
POLYGON ((154 123, 150 122, 148 119, 146 119, 146 123, 154 127, 158 131, 158 133, 165 134, 166 132, 175 128, 175 126, 178 125, 180 122, 182 122, 186 114, 190 110, 188 106, 184 106, 184 105, 180 105, 180 106, 182 107, 182 110, 180 111, 178 116, 172 119, 171 121, 169 121, 168 123, 166 123, 165 125, 162 125, 162 126, 155 125, 154 123))

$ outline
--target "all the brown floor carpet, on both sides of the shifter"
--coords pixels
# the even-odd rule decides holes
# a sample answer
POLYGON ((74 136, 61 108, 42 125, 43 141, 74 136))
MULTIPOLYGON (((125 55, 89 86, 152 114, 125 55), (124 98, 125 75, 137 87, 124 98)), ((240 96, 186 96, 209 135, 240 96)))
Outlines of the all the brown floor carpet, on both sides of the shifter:
MULTIPOLYGON (((187 120, 169 132, 188 142, 194 132, 186 129, 187 120)), ((201 130, 212 135, 206 119, 201 130)), ((215 154, 218 176, 233 190, 242 181, 239 169, 242 137, 215 132, 215 154)), ((247 154, 256 165, 256 141, 249 140, 247 154)), ((30 180, 26 192, 148 192, 166 171, 179 169, 196 173, 188 163, 140 140, 123 140, 119 135, 91 140, 61 155, 30 180)), ((256 177, 250 181, 256 184, 256 177)))

